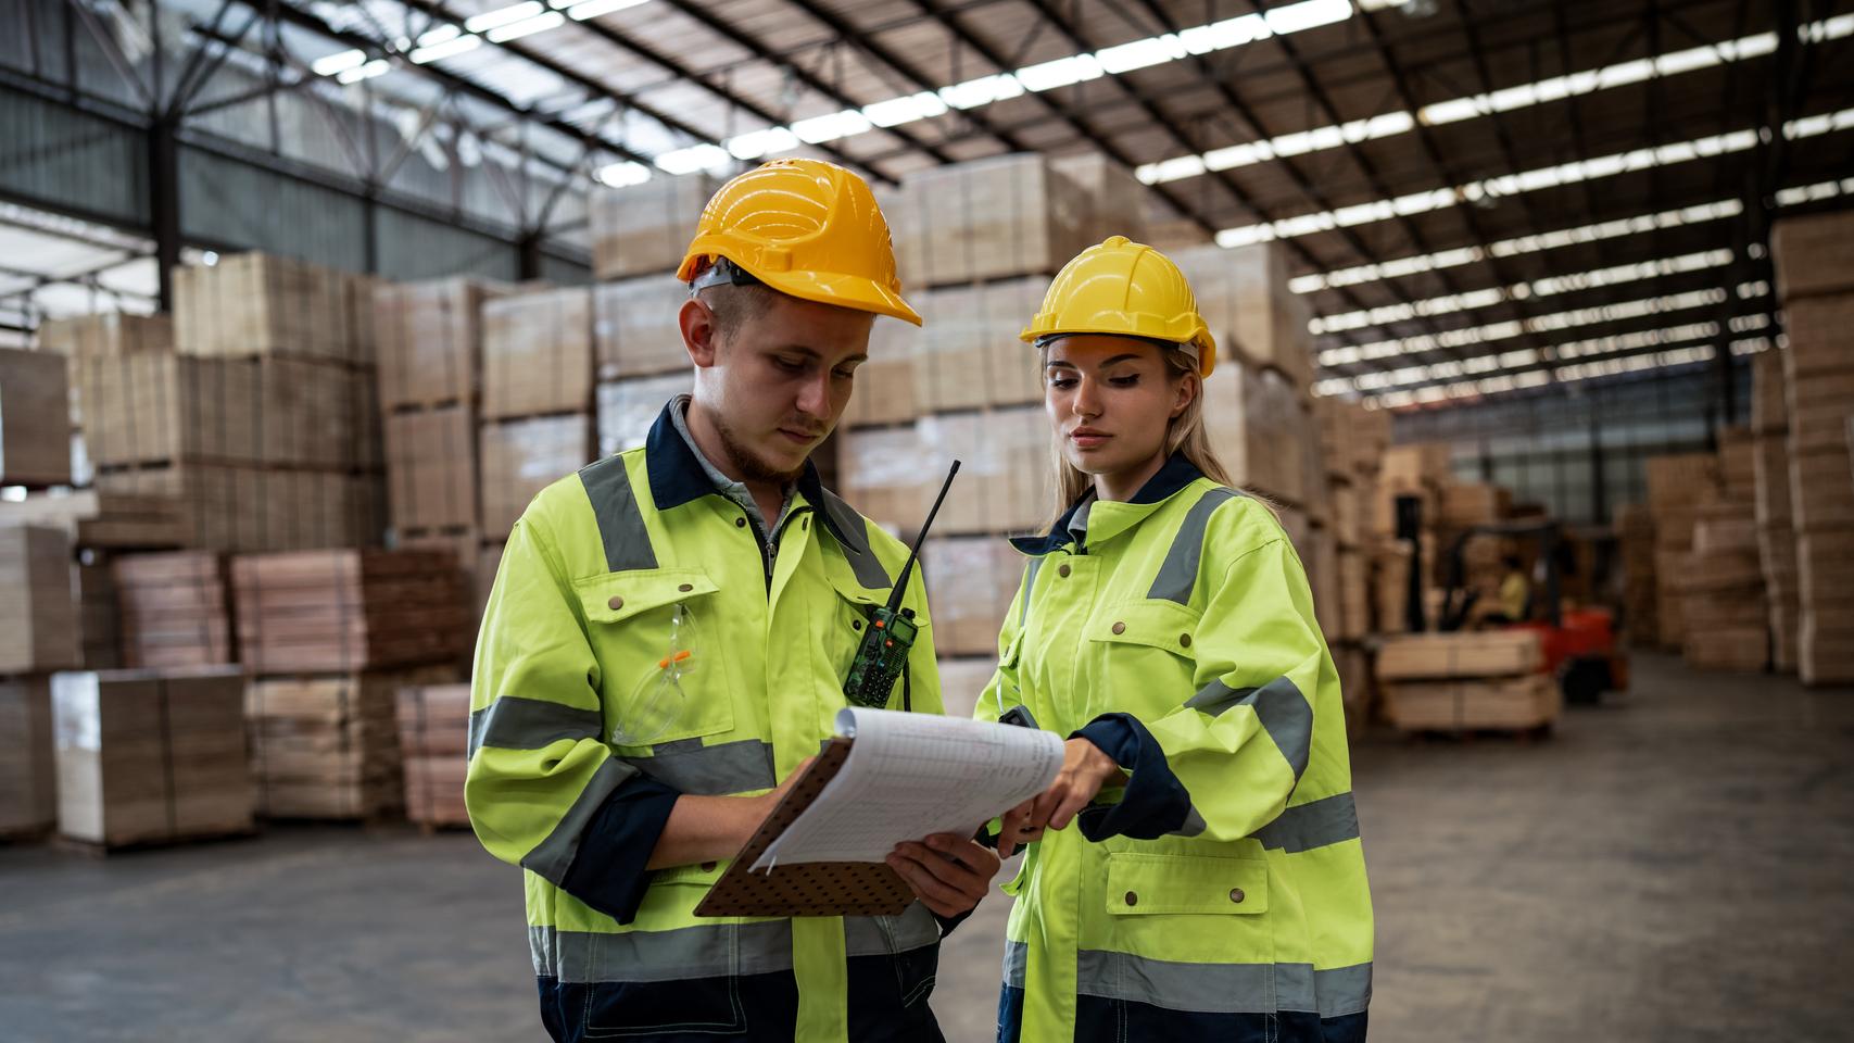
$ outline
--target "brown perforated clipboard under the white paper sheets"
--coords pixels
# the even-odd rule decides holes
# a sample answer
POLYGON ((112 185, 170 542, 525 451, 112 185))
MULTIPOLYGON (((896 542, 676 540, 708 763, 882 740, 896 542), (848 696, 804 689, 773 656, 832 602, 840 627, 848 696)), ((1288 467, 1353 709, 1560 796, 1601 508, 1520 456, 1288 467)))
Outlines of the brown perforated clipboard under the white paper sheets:
POLYGON ((775 865, 768 872, 747 869, 818 800, 849 757, 849 746, 851 740, 842 737, 825 744, 695 906, 697 917, 899 917, 907 911, 914 889, 888 863, 818 861, 775 865))

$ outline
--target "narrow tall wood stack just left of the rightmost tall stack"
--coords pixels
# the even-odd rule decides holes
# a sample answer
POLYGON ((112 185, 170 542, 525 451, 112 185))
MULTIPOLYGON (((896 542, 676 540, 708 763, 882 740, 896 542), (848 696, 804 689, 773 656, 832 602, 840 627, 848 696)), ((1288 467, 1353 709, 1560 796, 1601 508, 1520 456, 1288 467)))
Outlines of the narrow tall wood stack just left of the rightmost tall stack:
POLYGON ((1750 429, 1758 557, 1771 603, 1771 666, 1793 674, 1802 603, 1789 510, 1789 406, 1784 405, 1784 356, 1776 351, 1752 358, 1750 429))

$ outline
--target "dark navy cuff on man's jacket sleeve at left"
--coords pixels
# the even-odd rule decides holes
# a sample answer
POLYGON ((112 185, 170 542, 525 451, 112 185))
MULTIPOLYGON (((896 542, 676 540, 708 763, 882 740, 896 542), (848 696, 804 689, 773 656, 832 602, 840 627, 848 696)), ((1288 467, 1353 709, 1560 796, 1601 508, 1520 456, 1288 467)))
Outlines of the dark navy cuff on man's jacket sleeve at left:
POLYGON ((621 924, 638 919, 654 876, 643 867, 679 796, 649 776, 634 776, 612 791, 580 833, 560 889, 621 924))

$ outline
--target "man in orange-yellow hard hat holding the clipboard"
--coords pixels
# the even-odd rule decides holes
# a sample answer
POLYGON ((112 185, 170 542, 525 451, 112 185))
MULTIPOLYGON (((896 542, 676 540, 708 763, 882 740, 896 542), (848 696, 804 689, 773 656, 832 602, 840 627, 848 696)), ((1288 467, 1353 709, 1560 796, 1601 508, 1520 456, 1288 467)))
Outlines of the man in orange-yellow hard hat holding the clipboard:
MULTIPOLYGON (((693 397, 510 533, 476 644, 471 824, 527 870, 554 1039, 940 1039, 938 939, 997 870, 970 839, 890 857, 920 895, 899 917, 693 915, 832 733, 907 559, 808 457, 875 317, 920 315, 870 187, 816 160, 723 186, 679 278, 693 397)), ((940 713, 920 583, 905 605, 920 638, 888 705, 940 713)))

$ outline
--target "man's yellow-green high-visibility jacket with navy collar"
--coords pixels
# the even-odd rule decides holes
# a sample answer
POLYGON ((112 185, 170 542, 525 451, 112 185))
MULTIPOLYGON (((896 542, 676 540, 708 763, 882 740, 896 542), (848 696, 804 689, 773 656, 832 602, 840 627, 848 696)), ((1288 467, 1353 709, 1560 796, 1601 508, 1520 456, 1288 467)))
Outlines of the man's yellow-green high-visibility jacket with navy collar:
MULTIPOLYGON (((476 644, 465 800, 482 844, 525 870, 543 1021, 556 1039, 940 1039, 940 924, 918 902, 708 919, 693 908, 727 861, 643 869, 677 794, 764 792, 819 752, 907 557, 814 470, 762 544, 673 408, 641 449, 534 499, 476 644)), ((905 605, 920 637, 890 709, 940 713, 918 581, 905 605)))

